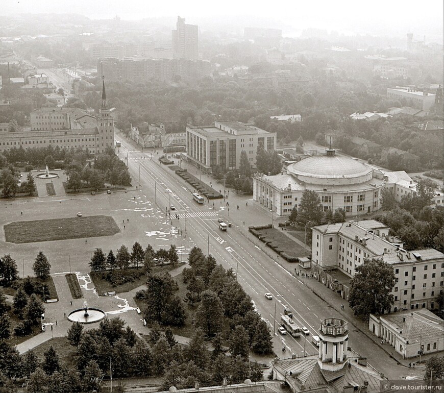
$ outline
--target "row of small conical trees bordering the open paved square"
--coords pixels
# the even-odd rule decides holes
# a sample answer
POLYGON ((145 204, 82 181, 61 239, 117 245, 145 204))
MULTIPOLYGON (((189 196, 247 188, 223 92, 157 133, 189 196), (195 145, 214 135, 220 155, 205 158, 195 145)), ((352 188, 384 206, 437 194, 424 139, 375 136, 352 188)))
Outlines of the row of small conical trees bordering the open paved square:
POLYGON ((150 273, 155 263, 159 263, 161 266, 165 263, 176 266, 178 262, 179 256, 174 244, 171 244, 168 250, 159 249, 154 251, 151 244, 148 244, 146 249, 143 250, 140 243, 136 241, 133 244, 131 253, 125 244, 120 246, 116 255, 114 255, 112 250, 105 254, 102 249, 95 249, 89 266, 92 272, 102 272, 107 269, 113 271, 115 269, 128 269, 131 266, 139 267, 139 265, 143 264, 146 273, 150 273))

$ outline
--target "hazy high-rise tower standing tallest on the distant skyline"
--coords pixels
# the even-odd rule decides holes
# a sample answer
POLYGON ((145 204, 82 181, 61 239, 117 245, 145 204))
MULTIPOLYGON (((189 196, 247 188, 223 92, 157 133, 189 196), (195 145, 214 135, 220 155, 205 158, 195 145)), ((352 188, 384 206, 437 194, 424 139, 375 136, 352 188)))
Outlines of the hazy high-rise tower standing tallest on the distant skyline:
POLYGON ((177 17, 176 30, 172 31, 172 55, 175 59, 199 58, 198 26, 186 24, 185 18, 177 17))

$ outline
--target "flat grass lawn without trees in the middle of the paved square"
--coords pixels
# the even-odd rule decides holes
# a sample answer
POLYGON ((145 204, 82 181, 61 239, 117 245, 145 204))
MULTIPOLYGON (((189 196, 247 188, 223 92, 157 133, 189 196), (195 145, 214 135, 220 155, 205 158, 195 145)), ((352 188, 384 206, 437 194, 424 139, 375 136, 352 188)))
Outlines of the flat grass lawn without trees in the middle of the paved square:
POLYGON ((120 232, 114 218, 106 215, 17 221, 4 229, 6 241, 11 243, 111 236, 120 232))

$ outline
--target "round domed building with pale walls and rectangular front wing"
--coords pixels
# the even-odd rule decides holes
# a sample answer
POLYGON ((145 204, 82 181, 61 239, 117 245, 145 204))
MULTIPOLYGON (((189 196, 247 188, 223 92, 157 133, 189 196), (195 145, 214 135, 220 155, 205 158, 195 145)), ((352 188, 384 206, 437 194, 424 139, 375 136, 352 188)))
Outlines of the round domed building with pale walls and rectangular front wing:
POLYGON ((356 159, 337 156, 333 149, 290 164, 286 174, 253 177, 253 198, 277 215, 290 214, 304 190, 319 195, 324 211, 338 208, 347 216, 381 208, 384 174, 356 159))

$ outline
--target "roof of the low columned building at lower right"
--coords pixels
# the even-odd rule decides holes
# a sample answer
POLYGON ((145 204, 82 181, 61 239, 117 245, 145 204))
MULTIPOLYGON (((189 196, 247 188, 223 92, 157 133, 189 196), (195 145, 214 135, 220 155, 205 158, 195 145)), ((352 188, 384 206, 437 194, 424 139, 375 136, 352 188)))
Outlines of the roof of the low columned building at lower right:
MULTIPOLYGON (((373 316, 373 315, 372 315, 373 316)), ((379 316, 394 327, 408 343, 431 342, 442 338, 444 327, 442 319, 426 308, 412 311, 398 311, 379 316)))

